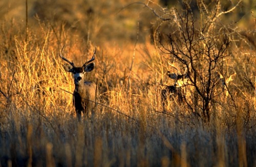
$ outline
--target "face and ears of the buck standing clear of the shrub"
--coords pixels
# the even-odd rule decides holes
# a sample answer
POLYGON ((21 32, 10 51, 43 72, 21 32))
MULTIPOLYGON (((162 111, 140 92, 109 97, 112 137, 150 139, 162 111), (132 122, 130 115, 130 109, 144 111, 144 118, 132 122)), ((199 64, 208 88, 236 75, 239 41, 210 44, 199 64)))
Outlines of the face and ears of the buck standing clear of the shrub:
POLYGON ((75 86, 82 85, 84 83, 84 74, 89 73, 94 69, 95 63, 84 64, 82 67, 73 67, 70 64, 64 64, 64 69, 73 74, 75 86))

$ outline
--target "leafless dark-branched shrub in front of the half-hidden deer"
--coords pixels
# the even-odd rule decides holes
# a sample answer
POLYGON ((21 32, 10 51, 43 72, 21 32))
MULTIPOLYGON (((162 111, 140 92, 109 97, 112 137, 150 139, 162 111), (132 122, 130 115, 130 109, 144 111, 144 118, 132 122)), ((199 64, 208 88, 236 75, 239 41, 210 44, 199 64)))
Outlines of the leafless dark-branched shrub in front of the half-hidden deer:
POLYGON ((218 29, 222 25, 219 18, 236 9, 240 2, 234 4, 231 9, 222 11, 219 1, 211 6, 198 1, 199 19, 195 18, 190 4, 185 1, 183 11, 166 9, 162 11, 162 15, 154 11, 160 20, 175 27, 169 34, 165 34, 165 37, 161 35, 155 38, 159 49, 167 55, 169 62, 176 62, 182 69, 188 70, 191 88, 187 89, 185 94, 189 93, 190 96, 184 96, 184 100, 188 108, 204 120, 210 120, 210 113, 215 110, 212 106, 219 103, 221 94, 229 94, 231 105, 236 108, 226 82, 229 73, 234 72, 234 69, 230 68, 231 35, 223 36, 223 32, 218 29), (222 84, 218 84, 219 82, 222 84), (224 93, 224 89, 228 92, 224 93), (220 90, 223 93, 220 93, 220 90))

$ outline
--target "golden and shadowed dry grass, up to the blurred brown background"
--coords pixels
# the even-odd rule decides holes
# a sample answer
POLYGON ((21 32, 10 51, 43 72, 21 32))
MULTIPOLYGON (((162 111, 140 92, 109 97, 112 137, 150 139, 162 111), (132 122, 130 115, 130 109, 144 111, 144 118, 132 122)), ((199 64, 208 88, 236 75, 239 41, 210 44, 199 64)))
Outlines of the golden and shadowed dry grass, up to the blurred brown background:
POLYGON ((256 165, 255 50, 241 46, 233 53, 237 110, 229 101, 216 104, 219 112, 205 123, 175 101, 163 112, 160 92, 170 84, 170 66, 154 45, 93 37, 96 69, 88 79, 97 82, 99 104, 94 118, 79 123, 68 93, 73 79, 58 52, 66 44, 63 55, 81 65, 94 43, 49 22, 27 29, 24 22, 1 20, 1 166, 256 165))

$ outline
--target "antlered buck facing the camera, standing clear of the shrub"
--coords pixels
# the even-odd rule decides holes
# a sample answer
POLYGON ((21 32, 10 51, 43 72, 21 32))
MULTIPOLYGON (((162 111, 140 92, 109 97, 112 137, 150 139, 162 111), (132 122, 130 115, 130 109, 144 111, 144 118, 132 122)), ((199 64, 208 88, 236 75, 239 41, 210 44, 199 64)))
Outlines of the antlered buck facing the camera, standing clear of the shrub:
MULTIPOLYGON (((64 46, 62 47, 63 50, 64 46)), ((78 120, 81 120, 81 112, 83 112, 84 117, 88 117, 89 111, 92 112, 95 106, 95 94, 96 94, 96 84, 94 82, 86 81, 84 78, 85 73, 89 73, 94 69, 96 55, 96 47, 94 50, 94 55, 91 60, 84 63, 81 67, 76 67, 75 64, 65 57, 62 56, 62 50, 59 53, 61 59, 67 61, 69 64, 64 64, 63 68, 73 74, 75 90, 73 93, 73 104, 75 106, 76 115, 78 120)))

